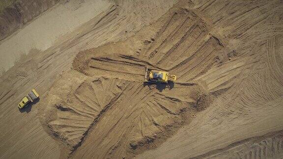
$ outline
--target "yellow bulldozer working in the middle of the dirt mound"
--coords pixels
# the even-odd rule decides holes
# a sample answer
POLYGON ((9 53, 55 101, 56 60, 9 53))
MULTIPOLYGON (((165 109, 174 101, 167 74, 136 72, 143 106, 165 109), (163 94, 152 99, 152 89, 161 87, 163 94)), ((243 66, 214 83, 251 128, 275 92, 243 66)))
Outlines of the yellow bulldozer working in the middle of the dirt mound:
POLYGON ((176 75, 170 75, 168 72, 145 68, 144 82, 149 83, 168 83, 175 81, 176 75))

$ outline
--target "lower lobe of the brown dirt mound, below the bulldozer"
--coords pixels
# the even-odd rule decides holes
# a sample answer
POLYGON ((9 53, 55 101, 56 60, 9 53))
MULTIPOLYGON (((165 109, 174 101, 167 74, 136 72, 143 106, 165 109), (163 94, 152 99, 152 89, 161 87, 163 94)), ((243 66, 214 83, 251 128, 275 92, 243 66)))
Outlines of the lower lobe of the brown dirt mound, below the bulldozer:
POLYGON ((92 151, 96 156, 126 155, 134 150, 139 153, 154 147, 148 144, 155 140, 158 143, 171 135, 211 101, 196 83, 175 83, 162 90, 158 87, 124 79, 85 77, 71 71, 44 99, 47 109, 43 118, 50 132, 70 148, 70 154, 82 143, 88 144, 89 139, 96 143, 87 149, 97 150, 92 151))

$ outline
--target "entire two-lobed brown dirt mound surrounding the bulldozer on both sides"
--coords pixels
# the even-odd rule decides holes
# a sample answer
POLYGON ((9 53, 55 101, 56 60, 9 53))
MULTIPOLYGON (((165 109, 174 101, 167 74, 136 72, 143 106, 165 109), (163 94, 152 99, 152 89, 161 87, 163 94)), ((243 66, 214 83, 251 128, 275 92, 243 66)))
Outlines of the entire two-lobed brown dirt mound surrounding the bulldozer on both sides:
POLYGON ((67 73, 45 99, 52 101, 45 115, 52 116, 45 119, 51 132, 77 158, 156 147, 212 101, 205 84, 194 81, 223 48, 207 30, 194 13, 176 7, 126 41, 79 53, 73 69, 85 80, 67 73), (146 66, 172 72, 178 82, 144 85, 146 66))

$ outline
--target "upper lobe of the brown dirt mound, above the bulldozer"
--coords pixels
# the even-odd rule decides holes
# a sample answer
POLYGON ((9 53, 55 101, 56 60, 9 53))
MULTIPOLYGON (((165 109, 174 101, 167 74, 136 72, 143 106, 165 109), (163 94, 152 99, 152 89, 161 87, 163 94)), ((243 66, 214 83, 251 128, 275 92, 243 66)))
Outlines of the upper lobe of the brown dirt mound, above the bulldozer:
POLYGON ((218 64, 223 44, 208 30, 193 12, 173 8, 127 42, 79 53, 73 68, 88 76, 118 72, 115 76, 143 80, 144 66, 149 66, 173 72, 178 81, 191 81, 218 64))

